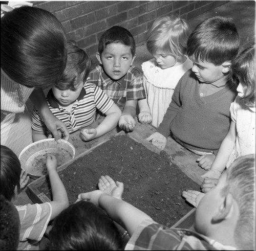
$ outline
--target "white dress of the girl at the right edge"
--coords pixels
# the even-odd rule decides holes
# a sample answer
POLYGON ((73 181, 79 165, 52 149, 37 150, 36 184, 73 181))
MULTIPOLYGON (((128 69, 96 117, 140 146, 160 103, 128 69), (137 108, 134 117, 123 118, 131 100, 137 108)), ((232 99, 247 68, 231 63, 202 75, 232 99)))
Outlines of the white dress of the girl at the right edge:
POLYGON ((255 107, 248 108, 243 99, 236 97, 230 105, 231 120, 236 123, 237 139, 231 152, 227 168, 233 161, 247 154, 255 154, 255 107))

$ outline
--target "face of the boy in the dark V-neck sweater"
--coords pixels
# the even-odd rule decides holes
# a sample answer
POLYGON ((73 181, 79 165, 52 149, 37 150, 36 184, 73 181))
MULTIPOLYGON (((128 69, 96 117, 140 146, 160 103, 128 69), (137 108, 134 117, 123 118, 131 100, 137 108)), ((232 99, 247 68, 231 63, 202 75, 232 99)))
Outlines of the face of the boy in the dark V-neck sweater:
POLYGON ((195 73, 198 81, 205 84, 213 84, 217 87, 223 85, 226 79, 224 72, 228 72, 229 68, 224 68, 223 65, 215 65, 207 61, 196 60, 194 56, 189 57, 193 62, 192 71, 195 73))

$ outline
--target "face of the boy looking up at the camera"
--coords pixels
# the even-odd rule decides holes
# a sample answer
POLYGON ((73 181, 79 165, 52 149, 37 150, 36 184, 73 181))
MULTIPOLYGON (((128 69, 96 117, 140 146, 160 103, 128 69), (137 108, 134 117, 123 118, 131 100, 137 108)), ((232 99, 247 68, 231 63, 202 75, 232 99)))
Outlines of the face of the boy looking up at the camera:
POLYGON ((119 80, 133 64, 131 47, 122 43, 110 43, 102 52, 101 56, 96 54, 98 61, 102 64, 104 72, 113 80, 119 80))

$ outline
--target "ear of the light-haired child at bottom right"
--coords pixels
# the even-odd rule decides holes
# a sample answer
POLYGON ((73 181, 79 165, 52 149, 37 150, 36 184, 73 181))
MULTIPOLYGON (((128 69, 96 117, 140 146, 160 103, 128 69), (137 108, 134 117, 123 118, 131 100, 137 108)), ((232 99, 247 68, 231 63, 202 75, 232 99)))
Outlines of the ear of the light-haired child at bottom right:
POLYGON ((217 223, 225 220, 226 217, 231 213, 233 207, 234 199, 233 196, 228 193, 219 207, 218 213, 212 217, 212 223, 217 223))

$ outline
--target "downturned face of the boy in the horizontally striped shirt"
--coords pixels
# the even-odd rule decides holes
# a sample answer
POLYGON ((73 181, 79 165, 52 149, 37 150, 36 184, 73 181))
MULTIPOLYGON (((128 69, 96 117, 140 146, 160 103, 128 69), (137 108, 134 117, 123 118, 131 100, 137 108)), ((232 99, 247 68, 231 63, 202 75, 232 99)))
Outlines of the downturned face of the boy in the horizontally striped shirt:
POLYGON ((52 92, 53 95, 55 97, 55 99, 57 100, 57 102, 61 105, 61 106, 68 106, 72 103, 74 103, 77 98, 79 97, 81 90, 83 87, 83 82, 81 82, 80 84, 78 84, 76 86, 76 90, 60 90, 58 88, 56 88, 55 86, 52 87, 52 92))

